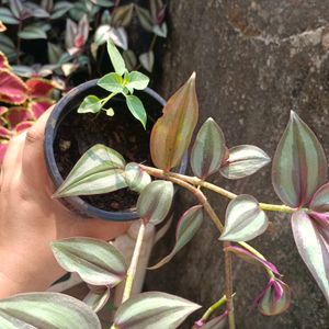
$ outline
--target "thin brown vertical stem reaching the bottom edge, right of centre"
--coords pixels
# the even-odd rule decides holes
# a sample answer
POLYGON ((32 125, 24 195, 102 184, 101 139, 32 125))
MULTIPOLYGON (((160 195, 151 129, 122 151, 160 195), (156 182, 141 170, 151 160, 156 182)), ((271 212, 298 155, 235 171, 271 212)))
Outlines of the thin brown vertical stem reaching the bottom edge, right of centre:
MULTIPOLYGON (((230 243, 225 241, 224 248, 229 247, 230 243)), ((225 295, 227 298, 226 309, 228 311, 228 325, 229 329, 236 328, 235 320, 235 306, 232 300, 232 275, 231 275, 231 254, 228 251, 224 252, 225 254, 225 295)))

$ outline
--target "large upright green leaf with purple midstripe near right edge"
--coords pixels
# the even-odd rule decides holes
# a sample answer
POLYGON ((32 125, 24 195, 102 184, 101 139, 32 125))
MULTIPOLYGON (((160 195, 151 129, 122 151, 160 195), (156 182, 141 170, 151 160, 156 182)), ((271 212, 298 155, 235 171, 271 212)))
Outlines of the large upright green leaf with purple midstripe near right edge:
POLYGON ((307 204, 326 181, 324 149, 316 135, 292 111, 273 158, 274 190, 284 204, 299 207, 307 204))

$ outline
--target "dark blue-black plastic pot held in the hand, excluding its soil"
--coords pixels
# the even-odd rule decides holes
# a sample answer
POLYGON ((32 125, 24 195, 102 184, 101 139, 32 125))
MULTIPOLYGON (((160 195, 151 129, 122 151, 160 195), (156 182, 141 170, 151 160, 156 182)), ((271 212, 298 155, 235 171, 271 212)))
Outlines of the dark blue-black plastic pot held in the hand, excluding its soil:
MULTIPOLYGON (((47 121, 46 129, 45 129, 44 152, 45 152, 45 159, 46 159, 46 164, 47 164, 49 175, 53 179, 53 182, 56 188, 58 188, 64 181, 58 170, 55 160, 55 154, 54 154, 54 143, 56 139, 58 127, 66 120, 67 115, 71 111, 77 111, 79 104, 82 102, 84 97, 87 97, 88 94, 97 94, 99 97, 105 95, 106 92, 103 91, 101 88, 99 88, 97 86, 97 82, 98 82, 97 79, 91 80, 72 89, 67 95, 65 95, 55 105, 55 109, 53 110, 47 121)), ((158 93, 156 93, 154 90, 149 88, 139 92, 138 97, 140 97, 141 99, 151 98, 152 101, 156 101, 159 104, 158 106, 159 109, 161 109, 166 104, 166 101, 158 93)), ((113 98, 113 101, 115 101, 115 98, 113 98)), ((159 111, 159 109, 157 109, 157 111, 159 111)), ((81 114, 77 114, 77 115, 81 115, 81 114)), ((186 164, 188 164, 188 157, 184 157, 179 169, 180 173, 185 172, 186 164)), ((80 197, 65 197, 65 198, 60 198, 60 201, 69 209, 75 211, 84 217, 97 217, 97 218, 102 218, 106 220, 116 220, 116 222, 138 219, 138 215, 134 211, 107 212, 87 203, 80 197)))

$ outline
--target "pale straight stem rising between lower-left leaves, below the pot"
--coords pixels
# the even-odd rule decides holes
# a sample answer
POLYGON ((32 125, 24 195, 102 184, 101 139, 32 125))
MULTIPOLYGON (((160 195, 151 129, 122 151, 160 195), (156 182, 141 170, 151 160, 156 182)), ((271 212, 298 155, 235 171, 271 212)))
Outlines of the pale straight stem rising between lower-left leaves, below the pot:
POLYGON ((138 259, 139 259, 139 254, 140 254, 144 234, 145 234, 145 224, 143 220, 140 220, 140 227, 138 230, 138 236, 137 236, 133 258, 131 261, 129 269, 127 271, 126 284, 125 284, 125 288, 124 288, 124 293, 123 293, 123 297, 122 297, 122 304, 124 302, 126 302, 132 295, 132 290, 133 290, 134 279, 135 279, 138 259))

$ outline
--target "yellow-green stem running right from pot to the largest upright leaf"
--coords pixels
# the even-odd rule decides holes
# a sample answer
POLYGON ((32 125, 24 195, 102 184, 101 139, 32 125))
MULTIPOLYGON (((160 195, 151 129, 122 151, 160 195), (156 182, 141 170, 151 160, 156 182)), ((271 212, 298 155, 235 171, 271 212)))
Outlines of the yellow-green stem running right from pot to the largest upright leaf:
MULTIPOLYGON (((156 173, 164 173, 163 170, 161 169, 157 169, 157 168, 152 168, 152 167, 148 167, 148 166, 144 166, 144 164, 140 164, 140 168, 144 169, 145 171, 147 171, 148 173, 155 175, 156 173)), ((170 177, 170 178, 177 178, 179 180, 182 180, 184 182, 188 182, 190 184, 193 184, 193 185, 196 185, 196 186, 202 186, 204 189, 207 189, 209 191, 213 191, 215 193, 218 193, 223 196, 226 196, 228 198, 236 198, 238 195, 230 192, 230 191, 227 191, 223 188, 219 188, 215 184, 212 184, 212 183, 208 183, 208 182, 205 182, 203 180, 201 180, 200 178, 197 177, 190 177, 190 175, 185 175, 185 174, 180 174, 180 173, 175 173, 175 172, 168 172, 166 173, 167 177, 170 177)), ((263 203, 263 202, 260 202, 259 203, 259 206, 261 209, 263 211, 268 211, 268 212, 281 212, 281 213, 287 213, 287 214, 292 214, 294 212, 296 212, 296 208, 292 208, 292 207, 288 207, 286 205, 279 205, 279 204, 269 204, 269 203, 263 203)))

